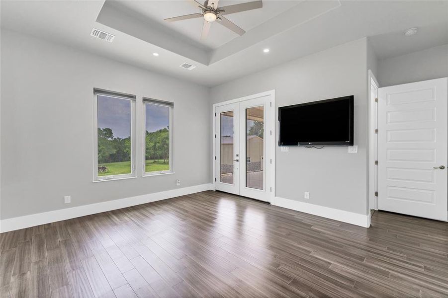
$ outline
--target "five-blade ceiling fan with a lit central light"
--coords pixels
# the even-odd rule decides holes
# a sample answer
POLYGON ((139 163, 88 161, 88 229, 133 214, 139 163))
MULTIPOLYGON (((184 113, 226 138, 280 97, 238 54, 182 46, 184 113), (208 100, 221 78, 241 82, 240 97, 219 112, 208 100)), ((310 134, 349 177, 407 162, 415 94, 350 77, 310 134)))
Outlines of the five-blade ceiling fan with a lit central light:
POLYGON ((218 21, 218 24, 223 25, 227 29, 230 29, 239 35, 243 35, 244 33, 246 33, 246 31, 244 31, 243 29, 241 29, 240 27, 238 27, 237 25, 232 23, 230 20, 225 18, 223 15, 263 7, 263 1, 261 1, 261 0, 240 3, 240 4, 234 4, 234 5, 221 6, 221 7, 218 7, 218 1, 219 0, 206 0, 204 2, 204 5, 202 5, 201 3, 199 3, 195 0, 189 0, 189 2, 191 4, 193 4, 195 7, 199 8, 201 12, 186 14, 186 15, 181 15, 181 16, 176 16, 176 17, 170 17, 165 20, 167 22, 175 22, 175 21, 180 21, 180 20, 187 20, 187 19, 192 19, 192 18, 203 17, 204 25, 202 26, 201 39, 205 39, 207 37, 208 31, 210 31, 211 23, 216 20, 218 21))

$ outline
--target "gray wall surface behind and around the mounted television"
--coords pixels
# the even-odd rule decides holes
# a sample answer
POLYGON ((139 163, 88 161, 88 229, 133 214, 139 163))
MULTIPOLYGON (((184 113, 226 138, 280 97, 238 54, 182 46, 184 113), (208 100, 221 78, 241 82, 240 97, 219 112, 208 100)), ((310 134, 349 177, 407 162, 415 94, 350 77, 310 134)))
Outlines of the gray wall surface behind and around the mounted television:
POLYGON ((275 89, 276 107, 355 95, 358 154, 347 147, 276 147, 277 197, 367 214, 366 47, 363 38, 212 88, 213 103, 275 89))

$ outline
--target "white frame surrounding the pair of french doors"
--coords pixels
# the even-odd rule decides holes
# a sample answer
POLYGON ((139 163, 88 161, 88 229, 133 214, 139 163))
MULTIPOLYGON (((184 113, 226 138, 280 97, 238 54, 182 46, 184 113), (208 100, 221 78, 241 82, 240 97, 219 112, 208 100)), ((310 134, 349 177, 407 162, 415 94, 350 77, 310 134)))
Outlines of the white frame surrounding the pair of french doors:
MULTIPOLYGON (((213 143, 213 150, 212 150, 212 156, 211 156, 211 160, 212 160, 212 164, 213 164, 213 172, 212 172, 212 181, 213 181, 213 188, 215 188, 215 183, 216 183, 216 163, 215 163, 215 156, 216 156, 216 142, 215 142, 215 137, 216 137, 216 121, 215 121, 215 117, 216 117, 216 107, 218 106, 223 106, 223 105, 227 105, 230 103, 239 103, 242 101, 246 101, 246 100, 250 100, 250 99, 256 99, 256 98, 260 98, 260 97, 265 97, 265 96, 270 96, 270 102, 271 102, 271 106, 273 107, 273 109, 271 109, 270 113, 271 113, 271 117, 270 118, 270 127, 272 127, 272 131, 270 132, 270 136, 272 139, 272 142, 270 144, 270 151, 271 151, 271 158, 272 159, 272 163, 271 163, 271 173, 269 173, 269 175, 266 175, 266 179, 270 180, 270 185, 271 185, 271 190, 270 190, 270 196, 269 196, 269 203, 272 203, 274 201, 274 197, 275 197, 275 148, 276 148, 276 142, 277 142, 277 134, 276 132, 276 124, 275 124, 275 89, 273 90, 269 90, 269 91, 264 91, 264 92, 260 92, 260 93, 256 93, 256 94, 252 94, 252 95, 247 95, 247 96, 243 96, 243 97, 239 97, 239 98, 235 98, 235 99, 231 99, 231 100, 227 100, 227 101, 222 101, 219 103, 215 103, 213 104, 212 107, 212 123, 213 123, 213 130, 212 130, 212 143, 213 143)), ((266 113, 268 113, 268 111, 266 111, 266 113)), ((266 189, 266 191, 268 191, 268 189, 266 189)))

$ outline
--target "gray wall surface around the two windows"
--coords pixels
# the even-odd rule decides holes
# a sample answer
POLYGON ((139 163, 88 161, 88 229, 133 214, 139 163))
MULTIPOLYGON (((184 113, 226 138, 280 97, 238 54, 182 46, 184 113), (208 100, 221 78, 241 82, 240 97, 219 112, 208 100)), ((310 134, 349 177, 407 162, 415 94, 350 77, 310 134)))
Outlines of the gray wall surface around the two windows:
POLYGON ((1 73, 1 219, 211 181, 209 88, 6 30, 1 73), (92 183, 93 87, 137 95, 139 176, 142 96, 175 103, 176 174, 92 183))

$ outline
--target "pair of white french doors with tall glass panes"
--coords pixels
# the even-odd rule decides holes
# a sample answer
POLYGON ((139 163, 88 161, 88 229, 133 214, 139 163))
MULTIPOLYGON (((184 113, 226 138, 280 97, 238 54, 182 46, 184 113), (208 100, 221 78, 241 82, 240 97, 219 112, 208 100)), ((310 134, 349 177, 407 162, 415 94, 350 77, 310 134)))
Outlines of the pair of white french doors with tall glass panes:
POLYGON ((272 95, 215 107, 215 189, 270 202, 273 188, 272 95))

